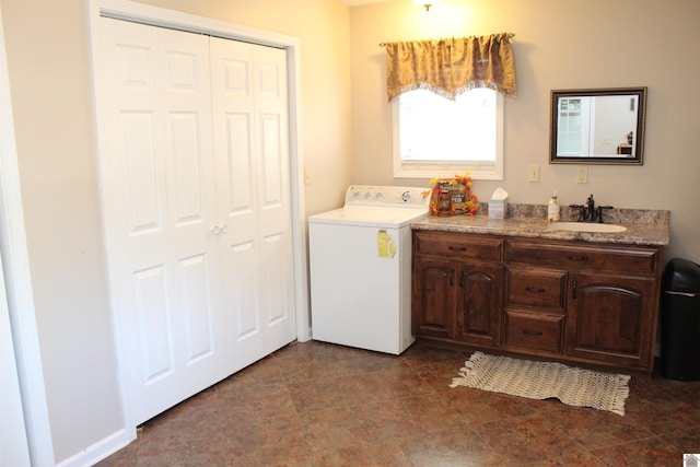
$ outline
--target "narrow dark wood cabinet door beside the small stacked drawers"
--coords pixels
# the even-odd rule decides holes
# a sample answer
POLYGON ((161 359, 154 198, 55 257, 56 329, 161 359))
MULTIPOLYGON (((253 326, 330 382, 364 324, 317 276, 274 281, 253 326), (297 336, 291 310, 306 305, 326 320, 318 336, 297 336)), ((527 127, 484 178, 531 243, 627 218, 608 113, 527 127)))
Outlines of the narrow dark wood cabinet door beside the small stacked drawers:
POLYGON ((456 338, 474 345, 499 346, 503 267, 462 262, 456 288, 456 338))

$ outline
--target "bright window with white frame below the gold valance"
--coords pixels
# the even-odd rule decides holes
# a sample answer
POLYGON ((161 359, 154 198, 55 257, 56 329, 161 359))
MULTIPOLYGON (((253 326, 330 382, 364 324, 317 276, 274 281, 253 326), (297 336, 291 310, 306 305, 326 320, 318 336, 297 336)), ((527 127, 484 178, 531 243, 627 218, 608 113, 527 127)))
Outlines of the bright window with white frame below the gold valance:
POLYGON ((425 90, 394 100, 394 176, 503 179, 503 96, 477 87, 450 101, 425 90))

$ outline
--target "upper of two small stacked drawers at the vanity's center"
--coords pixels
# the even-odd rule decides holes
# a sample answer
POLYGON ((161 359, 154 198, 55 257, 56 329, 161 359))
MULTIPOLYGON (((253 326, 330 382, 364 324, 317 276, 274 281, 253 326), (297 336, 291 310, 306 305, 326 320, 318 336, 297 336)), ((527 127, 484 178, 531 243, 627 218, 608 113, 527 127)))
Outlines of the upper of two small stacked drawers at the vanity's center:
POLYGON ((506 304, 563 313, 565 288, 564 271, 509 266, 506 304))

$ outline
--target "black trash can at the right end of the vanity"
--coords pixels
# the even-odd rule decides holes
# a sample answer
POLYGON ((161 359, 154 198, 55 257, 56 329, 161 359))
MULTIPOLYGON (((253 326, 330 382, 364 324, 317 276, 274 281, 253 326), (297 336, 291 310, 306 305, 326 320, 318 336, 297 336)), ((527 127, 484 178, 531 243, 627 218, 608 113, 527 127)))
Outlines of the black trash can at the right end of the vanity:
POLYGON ((674 258, 661 295, 661 371, 669 380, 700 380, 700 266, 674 258))

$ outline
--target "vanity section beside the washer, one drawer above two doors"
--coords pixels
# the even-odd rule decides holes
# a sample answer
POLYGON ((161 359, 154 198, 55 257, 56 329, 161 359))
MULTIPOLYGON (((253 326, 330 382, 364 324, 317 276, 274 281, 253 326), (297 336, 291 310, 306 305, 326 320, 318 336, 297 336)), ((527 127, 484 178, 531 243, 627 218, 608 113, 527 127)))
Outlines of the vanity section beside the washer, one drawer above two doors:
POLYGON ((416 336, 499 346, 502 240, 415 232, 412 282, 416 336))

